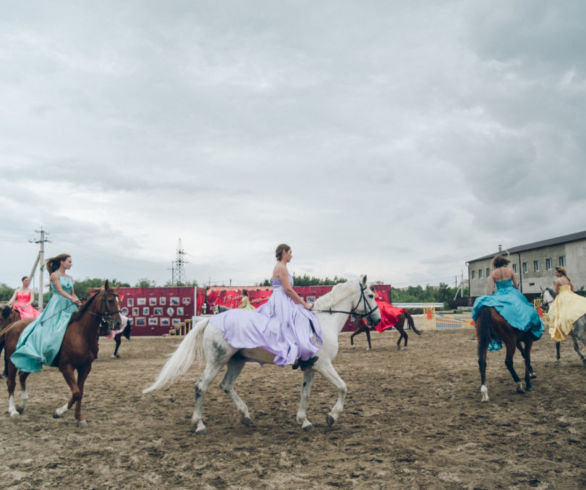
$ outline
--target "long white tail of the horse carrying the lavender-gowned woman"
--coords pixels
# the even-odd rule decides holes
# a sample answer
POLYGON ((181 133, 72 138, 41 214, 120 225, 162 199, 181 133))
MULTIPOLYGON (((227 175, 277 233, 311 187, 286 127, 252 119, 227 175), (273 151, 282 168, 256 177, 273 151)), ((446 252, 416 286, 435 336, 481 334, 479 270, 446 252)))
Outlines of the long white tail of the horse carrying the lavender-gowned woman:
POLYGON ((203 359, 203 333, 208 325, 208 320, 198 322, 195 327, 187 334, 183 341, 172 354, 171 358, 165 363, 159 373, 156 381, 148 388, 142 390, 143 393, 150 393, 169 386, 177 378, 183 376, 196 361, 203 359))

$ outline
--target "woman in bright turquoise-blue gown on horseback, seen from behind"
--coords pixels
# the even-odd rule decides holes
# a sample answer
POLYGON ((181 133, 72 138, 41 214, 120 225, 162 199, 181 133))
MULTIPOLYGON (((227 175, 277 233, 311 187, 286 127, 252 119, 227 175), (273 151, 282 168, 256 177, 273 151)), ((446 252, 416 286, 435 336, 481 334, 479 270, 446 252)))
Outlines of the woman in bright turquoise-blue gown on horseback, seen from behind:
MULTIPOLYGON (((472 308, 472 319, 474 321, 480 316, 480 310, 484 306, 495 308, 496 311, 511 325, 518 330, 531 332, 535 340, 543 334, 543 323, 537 310, 527 301, 519 291, 515 271, 510 267, 509 259, 497 255, 493 261, 493 271, 490 275, 491 292, 490 296, 480 296, 474 301, 472 308)), ((495 351, 502 348, 500 340, 491 340, 488 350, 495 351)))

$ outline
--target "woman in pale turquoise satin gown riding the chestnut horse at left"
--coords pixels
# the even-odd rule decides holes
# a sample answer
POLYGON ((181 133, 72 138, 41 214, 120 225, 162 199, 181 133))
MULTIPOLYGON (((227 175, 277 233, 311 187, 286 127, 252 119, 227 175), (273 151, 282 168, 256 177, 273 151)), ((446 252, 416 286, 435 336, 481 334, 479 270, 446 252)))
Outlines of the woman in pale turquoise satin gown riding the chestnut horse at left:
POLYGON ((41 316, 20 334, 16 350, 10 357, 21 371, 35 373, 43 364, 50 366, 61 348, 71 315, 81 303, 73 291, 73 279, 66 275, 71 265, 71 256, 67 254, 47 261, 53 295, 41 316))

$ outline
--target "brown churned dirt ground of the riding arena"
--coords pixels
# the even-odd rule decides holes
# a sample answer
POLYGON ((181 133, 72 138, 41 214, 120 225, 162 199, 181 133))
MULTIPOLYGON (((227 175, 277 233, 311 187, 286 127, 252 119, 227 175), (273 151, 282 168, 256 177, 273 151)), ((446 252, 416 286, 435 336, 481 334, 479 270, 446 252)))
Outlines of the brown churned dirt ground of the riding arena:
MULTIPOLYGON (((314 424, 295 422, 301 376, 290 368, 247 365, 237 389, 254 427, 239 423, 218 388, 208 392, 208 433, 190 424, 199 369, 166 391, 143 396, 177 338, 113 341, 86 384, 89 426, 70 412, 53 419, 68 389, 56 369, 29 378, 25 413, 11 419, 0 403, 0 487, 37 488, 585 488, 585 367, 570 344, 535 344, 534 390, 515 393, 502 352, 489 355, 489 403, 480 402, 472 330, 396 332, 350 347, 340 337, 335 365, 348 385, 345 411, 329 428, 333 388, 316 376, 314 424)), ((522 372, 519 353, 515 366, 522 372)), ((2 380, 2 383, 4 380, 2 380)))

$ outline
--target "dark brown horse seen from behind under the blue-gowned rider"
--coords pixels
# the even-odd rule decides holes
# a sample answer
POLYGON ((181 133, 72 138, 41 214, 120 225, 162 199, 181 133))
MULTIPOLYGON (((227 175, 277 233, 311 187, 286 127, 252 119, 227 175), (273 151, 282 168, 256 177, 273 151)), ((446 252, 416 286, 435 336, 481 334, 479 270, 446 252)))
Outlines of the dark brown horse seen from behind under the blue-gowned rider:
POLYGON ((478 368, 480 370, 480 393, 482 401, 488 401, 488 388, 486 387, 486 353, 491 340, 500 340, 505 344, 506 357, 505 365, 511 373, 513 380, 517 383, 517 393, 524 393, 531 390, 531 379, 535 378, 531 367, 531 346, 535 337, 531 332, 524 332, 512 327, 495 308, 485 306, 480 310, 476 321, 476 338, 478 340, 478 368), (524 344, 521 345, 521 342, 524 344), (525 359, 525 387, 517 376, 513 366, 515 350, 519 349, 525 359))

